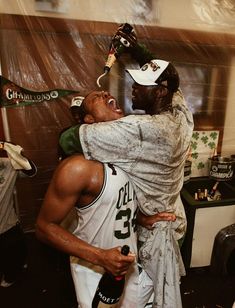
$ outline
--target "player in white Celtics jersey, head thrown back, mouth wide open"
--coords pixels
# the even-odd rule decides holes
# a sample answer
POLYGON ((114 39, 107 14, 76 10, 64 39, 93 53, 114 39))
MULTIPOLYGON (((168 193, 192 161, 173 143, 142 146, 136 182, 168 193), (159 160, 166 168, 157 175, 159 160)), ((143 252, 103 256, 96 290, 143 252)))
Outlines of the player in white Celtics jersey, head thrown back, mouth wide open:
MULTIPOLYGON (((108 101, 91 101, 89 119, 118 119, 122 116, 108 101), (109 116, 107 116, 109 115, 109 116)), ((63 160, 56 169, 43 201, 36 223, 36 235, 42 241, 71 256, 71 271, 79 307, 91 307, 91 302, 104 271, 126 275, 126 287, 119 307, 138 307, 139 274, 137 270, 137 243, 135 193, 129 177, 111 164, 88 161, 82 155, 63 160), (61 222, 76 208, 78 225, 73 233, 61 222), (120 248, 129 245, 131 253, 123 256, 120 248)), ((168 213, 142 217, 142 223, 151 228, 159 220, 172 220, 168 213)), ((139 306, 141 307, 141 305, 139 306)), ((141 307, 143 308, 143 307, 141 307)))

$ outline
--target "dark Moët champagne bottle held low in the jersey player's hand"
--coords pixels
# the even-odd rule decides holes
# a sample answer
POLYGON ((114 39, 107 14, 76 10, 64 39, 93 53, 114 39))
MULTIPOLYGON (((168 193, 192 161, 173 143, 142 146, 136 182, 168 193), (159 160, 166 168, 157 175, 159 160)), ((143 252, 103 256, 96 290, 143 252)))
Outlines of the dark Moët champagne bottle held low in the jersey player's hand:
MULTIPOLYGON (((129 253, 129 246, 124 245, 121 253, 125 256, 129 253)), ((122 295, 125 286, 125 276, 113 276, 105 272, 101 277, 96 289, 92 308, 111 308, 115 307, 122 295)))

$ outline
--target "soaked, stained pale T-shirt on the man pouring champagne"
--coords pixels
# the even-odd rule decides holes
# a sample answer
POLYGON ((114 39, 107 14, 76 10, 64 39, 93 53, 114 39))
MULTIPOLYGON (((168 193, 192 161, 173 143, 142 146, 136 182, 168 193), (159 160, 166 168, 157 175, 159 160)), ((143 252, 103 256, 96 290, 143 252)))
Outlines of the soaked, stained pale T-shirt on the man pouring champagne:
POLYGON ((167 285, 171 286, 184 274, 177 240, 186 230, 180 190, 192 131, 192 114, 180 91, 174 94, 173 112, 130 115, 116 121, 82 125, 79 130, 87 159, 111 162, 129 174, 144 214, 167 211, 177 215, 175 222, 157 223, 154 231, 139 230, 139 239, 144 243, 139 256, 150 277, 156 280, 155 293, 159 294, 160 302, 166 299, 160 292, 160 281, 164 279, 159 273, 168 273, 167 285), (170 273, 174 273, 171 282, 170 273))

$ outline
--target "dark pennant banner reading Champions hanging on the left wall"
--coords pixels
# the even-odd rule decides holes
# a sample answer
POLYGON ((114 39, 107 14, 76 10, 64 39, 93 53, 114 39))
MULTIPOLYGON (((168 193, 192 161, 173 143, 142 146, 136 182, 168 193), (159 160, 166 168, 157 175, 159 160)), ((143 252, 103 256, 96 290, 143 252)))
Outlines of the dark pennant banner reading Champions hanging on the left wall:
POLYGON ((49 91, 37 92, 24 89, 12 81, 1 76, 1 107, 20 107, 26 105, 50 102, 55 99, 79 93, 76 90, 54 89, 49 91))

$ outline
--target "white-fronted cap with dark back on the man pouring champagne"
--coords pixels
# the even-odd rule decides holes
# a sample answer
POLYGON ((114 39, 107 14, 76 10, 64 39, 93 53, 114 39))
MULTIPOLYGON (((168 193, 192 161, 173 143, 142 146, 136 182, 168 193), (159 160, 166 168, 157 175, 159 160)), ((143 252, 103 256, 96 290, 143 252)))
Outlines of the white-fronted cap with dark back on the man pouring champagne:
MULTIPOLYGON (((159 78, 167 69, 169 64, 170 62, 168 61, 154 59, 149 63, 144 64, 140 69, 128 69, 126 71, 131 75, 134 81, 140 85, 156 86, 158 84, 160 85, 163 81, 166 81, 166 87, 176 91, 179 86, 179 77, 175 69, 173 69, 172 75, 171 73, 168 73, 165 78, 159 78)), ((172 64, 170 64, 170 66, 173 67, 172 64)))

